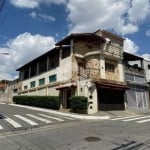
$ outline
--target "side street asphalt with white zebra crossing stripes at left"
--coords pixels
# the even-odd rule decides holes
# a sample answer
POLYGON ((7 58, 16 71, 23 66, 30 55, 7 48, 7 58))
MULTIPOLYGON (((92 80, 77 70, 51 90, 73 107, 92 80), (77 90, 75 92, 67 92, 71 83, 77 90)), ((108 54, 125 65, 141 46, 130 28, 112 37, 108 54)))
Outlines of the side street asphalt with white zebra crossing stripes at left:
POLYGON ((0 134, 75 121, 78 119, 0 104, 0 134))

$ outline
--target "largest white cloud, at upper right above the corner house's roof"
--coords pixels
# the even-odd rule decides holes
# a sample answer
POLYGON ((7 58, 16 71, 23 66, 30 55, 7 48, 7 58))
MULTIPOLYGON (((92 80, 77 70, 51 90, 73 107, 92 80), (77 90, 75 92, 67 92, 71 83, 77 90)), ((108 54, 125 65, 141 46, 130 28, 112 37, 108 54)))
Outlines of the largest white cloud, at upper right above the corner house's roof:
POLYGON ((69 0, 66 7, 70 32, 103 28, 121 35, 131 34, 150 15, 149 0, 69 0))

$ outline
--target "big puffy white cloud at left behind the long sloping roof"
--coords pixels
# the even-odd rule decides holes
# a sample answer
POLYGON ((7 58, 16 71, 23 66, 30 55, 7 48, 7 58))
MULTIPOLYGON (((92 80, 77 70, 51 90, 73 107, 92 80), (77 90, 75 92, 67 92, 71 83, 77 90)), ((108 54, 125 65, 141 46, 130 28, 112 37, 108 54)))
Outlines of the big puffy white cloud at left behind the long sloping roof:
POLYGON ((31 33, 23 33, 9 40, 5 47, 0 47, 0 53, 10 54, 0 55, 0 80, 14 79, 18 67, 50 50, 54 44, 53 37, 31 33))

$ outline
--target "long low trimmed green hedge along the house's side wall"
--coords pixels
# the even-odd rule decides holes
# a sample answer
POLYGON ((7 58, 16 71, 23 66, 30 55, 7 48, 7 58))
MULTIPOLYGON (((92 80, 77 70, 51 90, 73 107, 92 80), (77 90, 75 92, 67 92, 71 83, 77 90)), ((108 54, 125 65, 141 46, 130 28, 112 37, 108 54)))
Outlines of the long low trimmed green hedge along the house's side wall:
POLYGON ((16 104, 37 106, 50 109, 59 109, 60 100, 58 96, 14 96, 16 104))

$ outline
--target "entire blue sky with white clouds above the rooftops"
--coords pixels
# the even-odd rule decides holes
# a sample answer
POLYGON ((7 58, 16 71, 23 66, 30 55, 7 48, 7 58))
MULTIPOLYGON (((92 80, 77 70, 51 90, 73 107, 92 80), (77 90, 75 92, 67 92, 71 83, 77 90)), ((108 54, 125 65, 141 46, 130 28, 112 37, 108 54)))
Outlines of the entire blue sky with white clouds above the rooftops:
POLYGON ((105 29, 150 60, 150 0, 0 0, 0 80, 71 33, 105 29), (3 4, 3 5, 2 5, 3 4))

